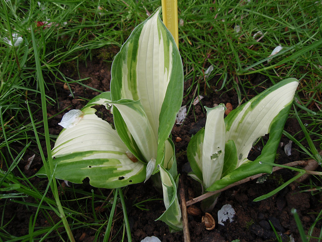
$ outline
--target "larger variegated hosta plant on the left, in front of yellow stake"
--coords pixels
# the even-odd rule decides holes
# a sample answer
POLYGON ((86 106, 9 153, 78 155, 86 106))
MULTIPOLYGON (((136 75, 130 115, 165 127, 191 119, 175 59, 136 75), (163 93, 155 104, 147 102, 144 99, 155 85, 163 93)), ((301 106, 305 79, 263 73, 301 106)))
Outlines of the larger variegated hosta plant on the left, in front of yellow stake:
MULTIPOLYGON (((52 149, 55 176, 98 188, 162 182, 166 212, 159 217, 172 231, 182 229, 177 198, 177 165, 169 135, 183 98, 183 66, 176 43, 158 9, 138 25, 115 56, 111 91, 63 117, 65 128, 52 149), (94 106, 111 108, 115 130, 94 106)), ((40 170, 38 174, 45 174, 40 170)))

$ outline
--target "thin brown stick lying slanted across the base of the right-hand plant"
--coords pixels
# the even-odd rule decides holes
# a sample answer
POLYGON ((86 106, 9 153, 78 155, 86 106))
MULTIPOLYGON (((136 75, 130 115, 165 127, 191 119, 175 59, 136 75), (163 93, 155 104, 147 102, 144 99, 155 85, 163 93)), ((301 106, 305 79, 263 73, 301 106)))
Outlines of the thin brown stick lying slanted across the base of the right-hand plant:
MULTIPOLYGON (((297 165, 306 165, 306 164, 309 164, 309 163, 311 163, 313 161, 316 162, 313 159, 306 160, 306 161, 305 160, 298 160, 298 161, 293 161, 293 162, 287 163, 285 165, 292 167, 292 166, 297 166, 297 165)), ((277 170, 280 170, 280 169, 283 169, 283 167, 275 166, 275 167, 273 167, 273 172, 277 171, 277 170)), ((260 176, 262 176, 264 174, 266 174, 266 173, 260 173, 260 174, 257 174, 257 175, 252 175, 252 176, 249 176, 249 177, 247 177, 247 178, 245 178, 243 180, 238 180, 235 183, 230 184, 230 185, 228 185, 227 187, 225 187, 223 189, 220 189, 220 190, 217 190, 217 191, 214 191, 214 192, 205 193, 205 194, 203 194, 203 195, 201 195, 201 196, 199 196, 197 198, 193 198, 193 199, 187 201, 186 206, 188 207, 188 206, 190 206, 192 204, 200 202, 200 201, 202 201, 202 200, 204 200, 204 199, 206 199, 206 198, 208 198, 208 197, 210 197, 210 196, 212 196, 214 194, 221 193, 221 192, 223 192, 223 191, 225 191, 225 190, 227 190, 229 188, 235 187, 235 186, 243 184, 243 183, 247 183, 247 181, 254 180, 254 179, 256 179, 256 178, 258 178, 258 177, 260 177, 260 176)))

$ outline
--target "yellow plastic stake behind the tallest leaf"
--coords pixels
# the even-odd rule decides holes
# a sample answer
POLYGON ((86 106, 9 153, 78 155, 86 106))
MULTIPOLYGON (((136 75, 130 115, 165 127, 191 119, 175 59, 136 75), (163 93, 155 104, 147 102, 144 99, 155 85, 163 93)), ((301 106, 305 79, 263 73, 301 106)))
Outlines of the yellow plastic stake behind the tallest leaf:
POLYGON ((171 32, 179 48, 177 0, 162 0, 162 16, 164 24, 171 32))

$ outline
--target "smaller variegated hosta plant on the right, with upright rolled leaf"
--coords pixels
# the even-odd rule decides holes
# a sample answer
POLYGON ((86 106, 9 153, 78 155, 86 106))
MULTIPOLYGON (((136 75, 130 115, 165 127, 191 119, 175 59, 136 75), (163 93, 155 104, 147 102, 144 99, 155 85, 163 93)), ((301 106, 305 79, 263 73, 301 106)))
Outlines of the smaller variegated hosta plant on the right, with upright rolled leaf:
MULTIPOLYGON (((187 149, 190 175, 206 191, 216 191, 251 175, 271 173, 272 165, 267 163, 274 163, 297 85, 294 78, 281 81, 225 118, 223 104, 206 108, 206 126, 192 137, 187 149), (253 143, 266 134, 269 139, 261 155, 249 160, 253 143)), ((205 204, 207 209, 210 203, 205 204)))

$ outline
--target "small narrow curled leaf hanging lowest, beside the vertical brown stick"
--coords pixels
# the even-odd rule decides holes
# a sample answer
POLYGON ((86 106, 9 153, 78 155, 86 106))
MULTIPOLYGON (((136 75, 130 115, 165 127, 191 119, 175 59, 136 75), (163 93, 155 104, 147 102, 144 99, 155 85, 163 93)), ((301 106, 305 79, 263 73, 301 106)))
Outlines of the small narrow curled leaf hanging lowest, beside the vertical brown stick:
POLYGON ((182 230, 182 216, 177 196, 179 175, 174 179, 172 175, 162 166, 158 165, 162 180, 164 203, 166 211, 156 220, 162 220, 168 224, 171 232, 182 230))

